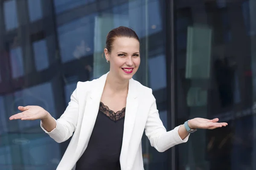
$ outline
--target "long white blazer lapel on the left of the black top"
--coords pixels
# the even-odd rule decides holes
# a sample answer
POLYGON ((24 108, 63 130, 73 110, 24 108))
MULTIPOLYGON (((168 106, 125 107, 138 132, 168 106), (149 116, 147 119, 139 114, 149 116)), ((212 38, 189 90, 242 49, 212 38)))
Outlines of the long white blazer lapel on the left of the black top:
POLYGON ((79 157, 81 156, 81 153, 83 153, 86 149, 91 133, 93 131, 93 127, 99 112, 99 103, 107 76, 108 73, 96 80, 97 82, 93 84, 94 87, 91 90, 90 96, 87 98, 84 109, 84 116, 81 123, 79 141, 76 147, 76 153, 79 157))

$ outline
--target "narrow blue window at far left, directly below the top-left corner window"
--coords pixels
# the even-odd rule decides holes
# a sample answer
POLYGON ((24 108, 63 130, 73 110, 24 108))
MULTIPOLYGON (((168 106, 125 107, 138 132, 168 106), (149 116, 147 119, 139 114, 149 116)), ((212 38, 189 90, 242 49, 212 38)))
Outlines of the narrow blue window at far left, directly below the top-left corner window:
POLYGON ((13 48, 10 51, 12 64, 12 77, 18 78, 24 75, 23 55, 21 47, 13 48))

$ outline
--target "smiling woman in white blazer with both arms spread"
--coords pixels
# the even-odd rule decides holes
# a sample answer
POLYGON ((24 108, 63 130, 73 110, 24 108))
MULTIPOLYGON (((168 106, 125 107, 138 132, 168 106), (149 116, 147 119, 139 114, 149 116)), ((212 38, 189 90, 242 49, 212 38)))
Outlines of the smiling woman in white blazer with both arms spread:
POLYGON ((227 125, 218 119, 195 118, 166 132, 152 90, 132 79, 140 66, 137 34, 127 27, 111 30, 104 53, 110 71, 99 79, 78 82, 58 120, 39 106, 19 106, 22 112, 10 117, 41 119, 42 129, 59 143, 73 136, 57 170, 143 170, 144 130, 151 146, 163 152, 187 142, 197 128, 227 125))

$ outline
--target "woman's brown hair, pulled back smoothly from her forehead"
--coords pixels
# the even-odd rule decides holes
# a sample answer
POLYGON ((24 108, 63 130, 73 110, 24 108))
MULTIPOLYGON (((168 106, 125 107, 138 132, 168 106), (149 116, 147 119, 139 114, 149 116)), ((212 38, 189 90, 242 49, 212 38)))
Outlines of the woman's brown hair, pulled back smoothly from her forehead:
POLYGON ((109 31, 107 38, 106 38, 106 48, 108 49, 108 52, 111 53, 111 50, 113 48, 113 42, 116 37, 128 37, 128 38, 135 38, 140 42, 139 37, 137 36, 136 32, 128 27, 125 26, 119 26, 117 28, 112 29, 109 31))

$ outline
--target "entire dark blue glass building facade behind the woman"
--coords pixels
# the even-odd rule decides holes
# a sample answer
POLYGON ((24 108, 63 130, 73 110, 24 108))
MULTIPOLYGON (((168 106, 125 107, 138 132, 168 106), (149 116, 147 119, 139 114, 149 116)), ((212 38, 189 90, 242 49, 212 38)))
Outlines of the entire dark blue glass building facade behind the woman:
POLYGON ((109 69, 112 28, 141 41, 134 79, 152 88, 167 130, 218 117, 159 153, 144 135, 145 170, 256 170, 256 0, 0 0, 0 170, 55 170, 70 140, 38 121, 9 121, 19 105, 55 119, 78 81, 109 69))

